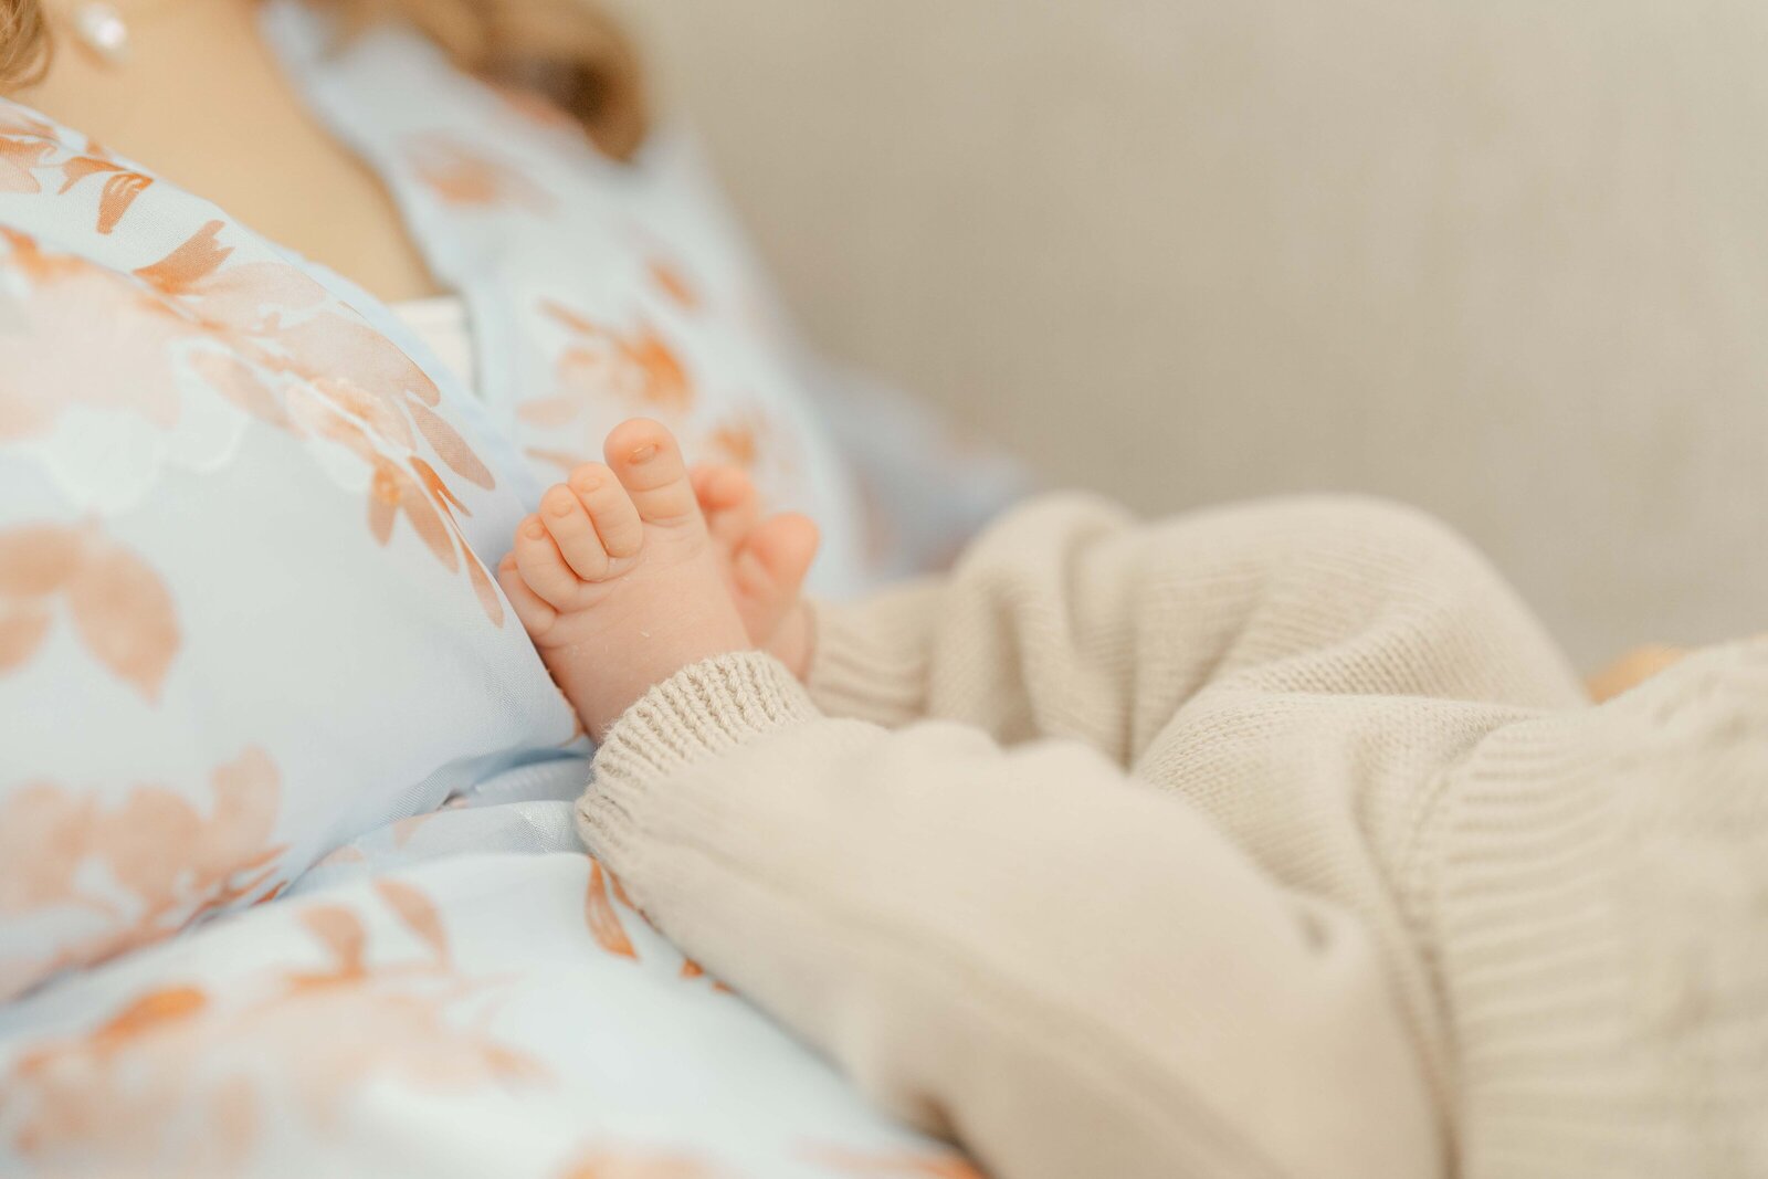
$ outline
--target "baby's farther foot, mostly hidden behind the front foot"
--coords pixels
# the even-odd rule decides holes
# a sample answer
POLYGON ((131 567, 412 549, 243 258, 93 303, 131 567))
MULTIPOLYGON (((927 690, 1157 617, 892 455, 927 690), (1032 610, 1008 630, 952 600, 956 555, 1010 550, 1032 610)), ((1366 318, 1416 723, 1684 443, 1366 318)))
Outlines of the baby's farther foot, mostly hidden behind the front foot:
POLYGON ((698 463, 690 479, 750 643, 804 679, 812 635, 801 587, 817 555, 817 525, 797 513, 762 520, 760 495, 741 467, 698 463))

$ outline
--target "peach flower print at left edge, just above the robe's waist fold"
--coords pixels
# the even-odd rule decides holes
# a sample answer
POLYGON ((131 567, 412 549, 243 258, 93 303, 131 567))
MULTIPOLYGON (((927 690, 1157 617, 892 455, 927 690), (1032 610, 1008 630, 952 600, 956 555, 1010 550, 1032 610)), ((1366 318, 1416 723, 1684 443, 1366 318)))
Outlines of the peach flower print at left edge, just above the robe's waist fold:
POLYGON ((157 942, 205 912, 260 898, 285 845, 276 765, 248 748, 216 767, 212 804, 140 785, 106 802, 95 790, 25 783, 0 801, 0 916, 64 910, 83 928, 42 962, 0 963, 0 999, 71 965, 157 942))

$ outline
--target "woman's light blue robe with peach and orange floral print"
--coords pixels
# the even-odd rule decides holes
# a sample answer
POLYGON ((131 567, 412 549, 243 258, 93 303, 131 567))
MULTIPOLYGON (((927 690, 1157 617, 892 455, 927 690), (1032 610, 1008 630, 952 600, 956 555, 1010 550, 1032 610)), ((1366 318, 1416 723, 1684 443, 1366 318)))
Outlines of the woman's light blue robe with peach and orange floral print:
POLYGON ((608 163, 403 32, 265 28, 463 297, 477 396, 0 103, 0 1172, 962 1174, 582 856, 587 742, 490 576, 638 412, 813 511, 826 590, 870 576, 691 152, 608 163))

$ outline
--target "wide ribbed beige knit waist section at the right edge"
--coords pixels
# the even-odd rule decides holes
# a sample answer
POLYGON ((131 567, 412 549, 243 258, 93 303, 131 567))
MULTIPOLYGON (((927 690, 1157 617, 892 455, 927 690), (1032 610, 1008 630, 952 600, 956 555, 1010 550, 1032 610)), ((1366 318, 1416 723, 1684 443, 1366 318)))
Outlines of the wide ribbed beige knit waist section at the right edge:
POLYGON ((1757 1124, 1768 659, 1750 663, 1692 658, 1522 721, 1450 783, 1429 850, 1467 1175, 1706 1174, 1757 1124))

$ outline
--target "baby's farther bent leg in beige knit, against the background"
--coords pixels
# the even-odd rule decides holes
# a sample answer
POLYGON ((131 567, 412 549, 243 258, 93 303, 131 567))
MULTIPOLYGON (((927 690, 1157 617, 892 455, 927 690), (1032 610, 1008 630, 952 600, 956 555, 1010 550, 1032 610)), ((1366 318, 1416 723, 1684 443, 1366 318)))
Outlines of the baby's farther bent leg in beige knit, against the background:
POLYGON ((1586 702, 1480 553, 1423 513, 1354 497, 1160 521, 1094 498, 1034 500, 949 578, 819 605, 810 686, 833 714, 1075 737, 1121 765, 1211 688, 1586 702))

